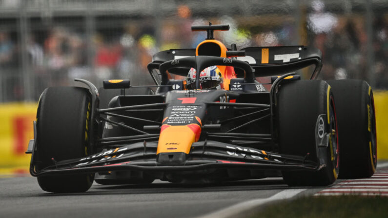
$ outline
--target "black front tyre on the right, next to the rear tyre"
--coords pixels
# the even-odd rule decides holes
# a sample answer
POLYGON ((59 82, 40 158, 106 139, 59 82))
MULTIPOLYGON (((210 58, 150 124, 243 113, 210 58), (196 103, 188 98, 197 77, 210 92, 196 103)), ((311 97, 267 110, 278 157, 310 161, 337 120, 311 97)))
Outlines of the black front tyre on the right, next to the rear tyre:
POLYGON ((332 184, 339 172, 339 144, 334 97, 322 80, 301 80, 279 87, 277 100, 279 146, 282 154, 304 156, 319 162, 319 171, 283 171, 289 186, 325 186, 332 184), (316 125, 323 128, 316 131, 316 125), (322 132, 319 132, 321 131, 322 132), (319 149, 316 136, 328 136, 327 147, 319 149), (322 162, 324 161, 324 162, 322 162))

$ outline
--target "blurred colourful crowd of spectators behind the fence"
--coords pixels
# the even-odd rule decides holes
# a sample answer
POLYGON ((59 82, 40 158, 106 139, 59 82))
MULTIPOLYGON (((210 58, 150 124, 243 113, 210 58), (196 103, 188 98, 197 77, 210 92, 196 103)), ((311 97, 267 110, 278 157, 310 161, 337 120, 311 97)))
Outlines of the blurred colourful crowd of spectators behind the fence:
POLYGON ((291 19, 268 19, 262 25, 255 22, 257 16, 198 17, 188 6, 180 5, 174 15, 163 19, 112 22, 101 28, 96 22, 89 36, 82 28, 53 23, 43 31, 31 29, 23 38, 24 47, 19 29, 1 28, 0 20, 0 102, 25 100, 23 64, 32 75, 32 100, 37 100, 47 86, 74 85, 74 78, 95 84, 117 78, 131 79, 132 84, 151 84, 146 65, 152 55, 166 49, 196 47, 205 34, 191 32, 190 27, 208 21, 230 25, 229 31, 215 34, 227 47, 231 43, 238 48, 298 43, 319 48, 324 63, 322 79, 370 79, 366 56, 372 49, 372 84, 376 89, 387 89, 388 12, 374 16, 372 48, 368 48, 364 14, 330 13, 321 1, 313 2, 300 21, 302 28, 296 28, 292 15, 291 19))

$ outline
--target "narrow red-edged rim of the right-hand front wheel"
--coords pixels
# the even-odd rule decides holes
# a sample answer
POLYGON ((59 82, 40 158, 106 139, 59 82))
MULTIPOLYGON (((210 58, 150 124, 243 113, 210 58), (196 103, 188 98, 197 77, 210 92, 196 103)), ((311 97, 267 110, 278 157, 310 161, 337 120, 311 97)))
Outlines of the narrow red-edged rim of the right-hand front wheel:
POLYGON ((330 145, 330 153, 331 153, 331 162, 334 168, 334 176, 336 177, 339 172, 339 144, 338 144, 338 127, 337 127, 337 116, 335 113, 335 104, 333 96, 330 96, 330 127, 329 127, 329 145, 330 145))

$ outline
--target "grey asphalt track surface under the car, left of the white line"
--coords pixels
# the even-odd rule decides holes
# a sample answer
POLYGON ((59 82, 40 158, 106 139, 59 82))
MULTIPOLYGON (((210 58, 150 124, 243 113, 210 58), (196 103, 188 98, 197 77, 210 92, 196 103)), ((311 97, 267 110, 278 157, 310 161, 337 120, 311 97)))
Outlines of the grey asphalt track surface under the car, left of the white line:
MULTIPOLYGON (((324 189, 303 188, 296 196, 313 195, 324 189)), ((243 206, 245 202, 271 199, 293 190, 282 178, 265 178, 212 185, 160 180, 149 185, 94 183, 85 193, 52 194, 42 191, 33 177, 0 178, 0 217, 193 218, 216 217, 220 210, 220 217, 227 217, 236 204, 243 206)))

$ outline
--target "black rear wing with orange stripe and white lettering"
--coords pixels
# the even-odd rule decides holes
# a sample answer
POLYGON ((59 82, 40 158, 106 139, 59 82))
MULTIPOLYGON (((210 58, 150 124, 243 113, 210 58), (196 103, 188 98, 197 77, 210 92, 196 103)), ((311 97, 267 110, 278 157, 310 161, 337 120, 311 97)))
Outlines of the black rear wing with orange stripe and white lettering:
MULTIPOLYGON (((255 69, 256 77, 277 76, 284 73, 296 71, 310 65, 315 69, 310 79, 315 79, 322 68, 322 53, 319 49, 305 46, 274 46, 274 47, 247 47, 245 57, 237 57, 238 60, 248 62, 255 69)), ((170 49, 156 53, 152 63, 147 68, 156 84, 160 79, 154 70, 159 69, 161 63, 195 56, 195 49, 170 49)), ((194 67, 194 66, 193 66, 194 67)), ((168 72, 180 76, 187 76, 189 68, 177 67, 168 72)))

